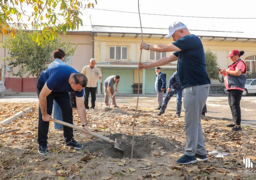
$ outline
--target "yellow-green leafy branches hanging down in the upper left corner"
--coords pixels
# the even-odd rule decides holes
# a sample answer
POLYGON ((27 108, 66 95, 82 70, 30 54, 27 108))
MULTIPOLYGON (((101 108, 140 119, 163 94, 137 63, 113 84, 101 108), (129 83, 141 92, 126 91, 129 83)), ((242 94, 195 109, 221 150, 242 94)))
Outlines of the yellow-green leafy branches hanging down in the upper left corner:
MULTIPOLYGON (((97 4, 97 0, 94 1, 97 4)), ((42 31, 34 34, 33 41, 38 45, 45 44, 45 41, 57 38, 60 32, 66 35, 67 31, 82 26, 81 10, 90 7, 94 8, 94 4, 84 0, 2 0, 0 30, 14 37, 16 28, 12 24, 19 26, 28 22, 42 31)), ((28 27, 23 25, 25 29, 28 27)))

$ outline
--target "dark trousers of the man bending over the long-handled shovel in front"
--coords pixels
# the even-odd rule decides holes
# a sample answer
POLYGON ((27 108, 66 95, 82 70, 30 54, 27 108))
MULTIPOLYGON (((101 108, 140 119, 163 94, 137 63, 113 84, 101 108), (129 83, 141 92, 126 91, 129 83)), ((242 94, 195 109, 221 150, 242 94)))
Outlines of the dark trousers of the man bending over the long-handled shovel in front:
MULTIPOLYGON (((44 85, 45 85, 44 83, 38 80, 37 86, 36 86, 36 92, 38 97, 44 85)), ((73 124, 72 105, 70 101, 70 95, 68 92, 51 92, 46 99, 47 99, 47 113, 49 115, 52 115, 53 100, 55 100, 59 104, 62 110, 63 121, 73 124)), ((37 132, 37 142, 39 145, 41 144, 47 145, 48 131, 49 131, 49 122, 42 120, 42 113, 39 107, 38 132, 37 132)), ((65 142, 71 141, 72 138, 74 137, 73 128, 63 126, 63 136, 65 139, 65 142)))

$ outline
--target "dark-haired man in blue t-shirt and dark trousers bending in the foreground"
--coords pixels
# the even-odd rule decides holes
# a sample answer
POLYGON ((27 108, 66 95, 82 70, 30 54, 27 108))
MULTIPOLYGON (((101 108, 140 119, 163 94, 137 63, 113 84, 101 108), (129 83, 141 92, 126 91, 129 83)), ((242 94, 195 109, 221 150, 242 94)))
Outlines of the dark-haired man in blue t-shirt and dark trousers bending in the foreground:
MULTIPOLYGON (((37 142, 39 144, 39 154, 49 154, 47 149, 47 139, 49 122, 53 110, 53 100, 55 100, 62 111, 63 121, 73 124, 73 109, 68 92, 75 92, 77 111, 86 134, 89 128, 86 120, 86 110, 84 106, 84 88, 87 85, 87 78, 84 74, 78 73, 74 68, 66 65, 57 65, 47 69, 40 75, 36 91, 39 98, 39 119, 37 142)), ((65 147, 82 149, 83 146, 74 140, 73 128, 63 126, 63 136, 65 147)))

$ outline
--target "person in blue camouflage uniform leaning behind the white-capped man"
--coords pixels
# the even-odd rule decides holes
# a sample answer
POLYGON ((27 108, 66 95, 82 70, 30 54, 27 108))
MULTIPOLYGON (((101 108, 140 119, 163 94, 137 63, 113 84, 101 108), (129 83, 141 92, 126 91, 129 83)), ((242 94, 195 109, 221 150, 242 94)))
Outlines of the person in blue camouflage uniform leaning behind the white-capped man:
POLYGON ((168 88, 166 90, 166 95, 164 98, 163 105, 160 108, 160 111, 157 113, 158 116, 160 116, 161 114, 163 114, 165 112, 167 104, 168 104, 169 100, 171 99, 171 97, 174 95, 174 93, 177 96, 176 116, 180 117, 180 111, 181 111, 181 105, 182 105, 182 101, 181 101, 182 89, 181 89, 181 84, 180 84, 180 81, 178 78, 177 71, 175 73, 173 73, 173 75, 169 79, 168 88))

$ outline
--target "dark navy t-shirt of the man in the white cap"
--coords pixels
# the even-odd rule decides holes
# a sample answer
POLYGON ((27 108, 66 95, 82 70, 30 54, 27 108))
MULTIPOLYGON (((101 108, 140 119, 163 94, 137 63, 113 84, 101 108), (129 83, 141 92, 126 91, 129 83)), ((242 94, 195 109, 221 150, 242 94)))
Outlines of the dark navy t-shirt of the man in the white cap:
POLYGON ((191 34, 173 44, 181 49, 173 54, 178 57, 177 71, 182 88, 210 84, 201 40, 191 34))

